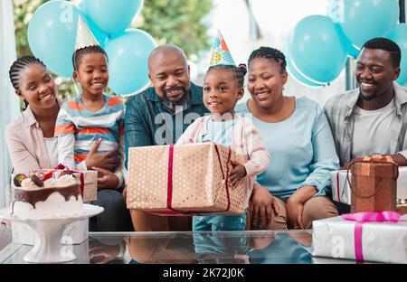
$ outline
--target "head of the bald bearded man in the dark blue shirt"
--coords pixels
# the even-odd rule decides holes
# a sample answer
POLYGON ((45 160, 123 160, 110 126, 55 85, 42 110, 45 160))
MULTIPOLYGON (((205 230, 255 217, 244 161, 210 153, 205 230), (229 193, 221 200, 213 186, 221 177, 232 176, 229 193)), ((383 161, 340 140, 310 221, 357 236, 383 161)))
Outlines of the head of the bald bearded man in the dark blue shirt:
POLYGON ((148 56, 148 78, 158 97, 182 105, 191 89, 185 52, 172 44, 156 47, 148 56))

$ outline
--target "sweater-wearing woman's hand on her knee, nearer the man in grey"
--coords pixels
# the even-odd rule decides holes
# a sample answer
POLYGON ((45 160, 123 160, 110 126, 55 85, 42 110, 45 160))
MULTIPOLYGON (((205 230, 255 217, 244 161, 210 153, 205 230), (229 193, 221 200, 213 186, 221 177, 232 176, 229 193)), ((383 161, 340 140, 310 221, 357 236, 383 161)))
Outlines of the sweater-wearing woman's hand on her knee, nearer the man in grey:
POLYGON ((302 186, 287 201, 287 224, 289 229, 305 229, 302 222, 304 203, 317 193, 314 186, 302 186))

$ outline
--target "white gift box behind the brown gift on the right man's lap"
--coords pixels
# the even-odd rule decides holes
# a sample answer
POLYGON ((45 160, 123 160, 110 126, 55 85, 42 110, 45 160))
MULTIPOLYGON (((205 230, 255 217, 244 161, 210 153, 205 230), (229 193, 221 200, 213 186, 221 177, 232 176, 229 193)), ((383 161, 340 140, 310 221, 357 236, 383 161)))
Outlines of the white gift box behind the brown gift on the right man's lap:
MULTIPOLYGON (((349 181, 352 174, 349 171, 349 181)), ((351 204, 351 190, 346 180, 346 170, 331 172, 332 180, 332 200, 351 204)), ((397 178, 397 199, 407 199, 407 166, 399 167, 399 177, 397 178)))

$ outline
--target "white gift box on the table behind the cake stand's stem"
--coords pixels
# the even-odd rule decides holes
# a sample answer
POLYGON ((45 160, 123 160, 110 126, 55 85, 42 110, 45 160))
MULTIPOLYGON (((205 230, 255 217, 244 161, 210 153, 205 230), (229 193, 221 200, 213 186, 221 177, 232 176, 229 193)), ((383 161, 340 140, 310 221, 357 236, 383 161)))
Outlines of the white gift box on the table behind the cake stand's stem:
MULTIPOLYGON (((88 239, 89 219, 75 221, 68 224, 62 233, 62 244, 80 244, 88 239)), ((24 245, 34 245, 37 233, 27 224, 13 222, 12 224, 13 242, 24 245)))

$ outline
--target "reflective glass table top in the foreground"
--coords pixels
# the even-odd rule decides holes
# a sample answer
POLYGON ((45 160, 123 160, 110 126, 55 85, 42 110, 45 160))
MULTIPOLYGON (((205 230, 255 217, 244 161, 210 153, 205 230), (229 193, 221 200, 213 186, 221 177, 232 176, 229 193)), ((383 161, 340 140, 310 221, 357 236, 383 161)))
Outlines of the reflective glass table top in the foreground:
MULTIPOLYGON (((11 242, 0 228, 0 263, 21 264, 33 246, 11 242)), ((66 245, 81 264, 311 264, 355 263, 314 258, 311 230, 223 232, 90 232, 78 245, 66 245)))

